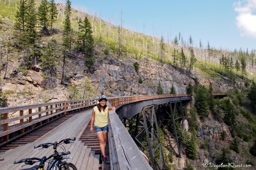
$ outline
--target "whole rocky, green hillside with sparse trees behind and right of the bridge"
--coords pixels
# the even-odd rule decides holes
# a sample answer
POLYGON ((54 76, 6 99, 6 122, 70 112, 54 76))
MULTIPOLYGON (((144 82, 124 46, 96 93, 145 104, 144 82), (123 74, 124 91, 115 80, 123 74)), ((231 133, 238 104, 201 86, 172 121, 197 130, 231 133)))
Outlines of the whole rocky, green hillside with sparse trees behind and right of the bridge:
MULTIPOLYGON (((113 26, 76 9, 72 10, 70 17, 73 44, 66 50, 63 45, 64 7, 64 4, 57 4, 58 19, 49 29, 49 35, 44 35, 42 26, 37 23, 35 43, 21 48, 13 29, 17 8, 0 4, 0 94, 3 106, 98 97, 101 94, 153 95, 157 94, 159 83, 163 94, 170 94, 172 86, 176 94, 186 94, 191 83, 196 102, 200 97, 211 102, 205 103, 204 111, 198 104, 196 108, 185 111, 189 122, 188 140, 192 140, 193 135, 197 139, 196 154, 192 157, 184 144, 187 169, 189 165, 204 169, 203 163, 217 164, 224 153, 230 163, 255 166, 255 155, 250 149, 256 139, 256 116, 247 97, 255 74, 255 51, 196 48, 182 38, 166 43, 156 37, 113 26), (7 15, 4 11, 10 12, 7 15), (91 23, 94 39, 93 64, 89 66, 85 54, 76 47, 78 19, 85 16, 91 23), (46 55, 48 52, 51 52, 50 57, 46 55), (64 60, 65 54, 68 55, 64 60), (192 60, 193 55, 196 60, 192 60), (241 66, 239 69, 236 61, 241 66), (246 65, 242 69, 244 61, 246 65), (27 62, 31 65, 28 66, 27 62), (49 74, 51 69, 53 71, 49 74), (86 81, 87 78, 90 81, 86 81), (228 97, 211 99, 208 94, 210 85, 212 92, 226 92, 228 97), (196 89, 206 91, 200 94, 196 89), (208 94, 208 98, 203 98, 203 94, 208 94), (238 145, 239 152, 234 150, 234 145, 238 145)), ((175 161, 169 162, 169 168, 176 169, 175 161)))

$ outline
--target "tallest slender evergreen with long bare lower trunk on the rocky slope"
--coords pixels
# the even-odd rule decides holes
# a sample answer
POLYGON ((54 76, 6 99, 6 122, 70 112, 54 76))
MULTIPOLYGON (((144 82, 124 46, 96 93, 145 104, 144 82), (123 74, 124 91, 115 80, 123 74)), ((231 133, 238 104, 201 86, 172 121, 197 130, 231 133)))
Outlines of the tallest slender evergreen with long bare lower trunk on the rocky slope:
POLYGON ((63 54, 63 67, 62 67, 62 77, 61 84, 64 83, 65 78, 65 62, 67 57, 67 50, 71 49, 72 45, 72 28, 70 22, 70 14, 71 14, 71 2, 70 0, 66 0, 66 9, 65 9, 65 20, 64 20, 64 30, 63 30, 63 46, 64 46, 64 54, 63 54))

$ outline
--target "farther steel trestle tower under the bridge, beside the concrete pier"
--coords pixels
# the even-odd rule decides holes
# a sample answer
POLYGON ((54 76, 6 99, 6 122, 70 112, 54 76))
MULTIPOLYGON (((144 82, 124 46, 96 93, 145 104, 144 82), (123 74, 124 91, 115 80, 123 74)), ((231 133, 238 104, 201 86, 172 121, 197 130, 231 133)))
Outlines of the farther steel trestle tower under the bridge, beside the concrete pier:
POLYGON ((184 123, 184 113, 182 108, 181 101, 179 102, 169 102, 168 103, 170 110, 166 111, 166 114, 164 114, 164 119, 161 118, 162 122, 168 122, 167 125, 163 125, 163 130, 168 131, 168 133, 172 136, 172 139, 166 139, 166 148, 168 150, 173 150, 176 156, 181 158, 181 135, 183 129, 183 123, 184 123), (172 125, 170 125, 172 124, 172 125))

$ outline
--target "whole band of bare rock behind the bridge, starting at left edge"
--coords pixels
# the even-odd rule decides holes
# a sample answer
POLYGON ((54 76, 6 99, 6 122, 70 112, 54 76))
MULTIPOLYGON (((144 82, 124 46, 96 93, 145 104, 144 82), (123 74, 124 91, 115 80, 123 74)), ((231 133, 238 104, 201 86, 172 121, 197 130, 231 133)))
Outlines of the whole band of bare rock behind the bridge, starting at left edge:
MULTIPOLYGON (((64 85, 60 85, 62 63, 58 63, 55 79, 57 86, 47 90, 42 88, 43 73, 39 67, 29 70, 27 75, 23 75, 17 73, 19 63, 16 63, 16 66, 9 68, 9 73, 13 72, 15 76, 1 81, 0 88, 21 96, 9 95, 7 106, 67 100, 68 86, 80 85, 85 76, 91 80, 96 89, 94 97, 101 94, 106 96, 154 95, 157 94, 159 81, 163 86, 164 94, 170 93, 172 85, 177 94, 185 94, 189 82, 192 84, 194 82, 189 74, 183 73, 170 64, 163 64, 152 59, 135 59, 133 56, 113 57, 111 54, 106 56, 101 51, 97 51, 97 53, 99 54, 95 56, 96 62, 91 70, 85 66, 84 57, 78 56, 77 59, 70 59, 65 69, 64 85), (138 72, 135 71, 134 62, 139 63, 138 72), (140 77, 143 83, 139 83, 140 77)), ((199 79, 199 82, 204 82, 204 85, 209 84, 209 81, 209 79, 199 79)), ((226 86, 223 82, 213 82, 212 84, 216 83, 218 87, 226 86)), ((225 91, 225 89, 222 90, 225 91)))

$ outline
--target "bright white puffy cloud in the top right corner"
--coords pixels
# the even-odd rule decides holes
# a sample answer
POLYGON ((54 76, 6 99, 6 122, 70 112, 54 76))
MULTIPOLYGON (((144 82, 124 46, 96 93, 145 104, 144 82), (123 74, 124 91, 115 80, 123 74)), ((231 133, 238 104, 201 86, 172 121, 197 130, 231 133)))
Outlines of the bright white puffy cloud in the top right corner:
POLYGON ((256 0, 238 1, 233 7, 238 12, 236 25, 241 36, 256 38, 256 0))

